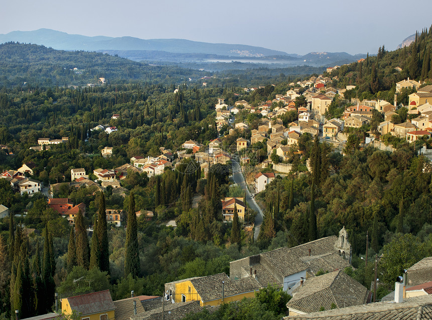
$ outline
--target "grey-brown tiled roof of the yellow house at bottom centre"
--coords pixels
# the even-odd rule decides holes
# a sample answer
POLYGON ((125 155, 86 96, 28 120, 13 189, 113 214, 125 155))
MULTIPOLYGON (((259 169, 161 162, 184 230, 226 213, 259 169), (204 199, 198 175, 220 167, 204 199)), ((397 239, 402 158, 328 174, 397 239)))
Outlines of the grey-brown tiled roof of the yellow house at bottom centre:
POLYGON ((224 281, 224 295, 226 297, 259 290, 260 283, 252 277, 230 280, 225 273, 213 274, 190 280, 201 300, 211 301, 222 298, 222 281, 224 281))

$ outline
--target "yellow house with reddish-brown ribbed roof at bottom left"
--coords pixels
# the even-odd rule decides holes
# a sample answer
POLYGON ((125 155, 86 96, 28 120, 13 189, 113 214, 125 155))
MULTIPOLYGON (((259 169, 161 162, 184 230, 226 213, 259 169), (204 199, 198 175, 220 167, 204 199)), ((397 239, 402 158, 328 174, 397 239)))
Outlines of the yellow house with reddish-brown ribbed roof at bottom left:
POLYGON ((61 309, 65 314, 77 311, 81 320, 116 320, 116 307, 110 290, 63 298, 61 309))

